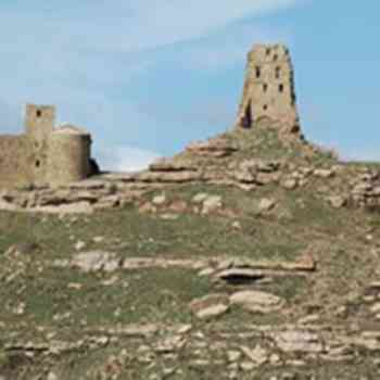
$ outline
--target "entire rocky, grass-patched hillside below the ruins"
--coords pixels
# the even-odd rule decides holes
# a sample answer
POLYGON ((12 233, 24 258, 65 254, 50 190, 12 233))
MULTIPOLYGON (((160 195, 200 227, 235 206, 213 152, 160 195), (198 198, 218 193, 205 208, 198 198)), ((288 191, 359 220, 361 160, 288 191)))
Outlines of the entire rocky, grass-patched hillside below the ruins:
POLYGON ((2 379, 377 379, 378 178, 267 121, 4 191, 2 379))

